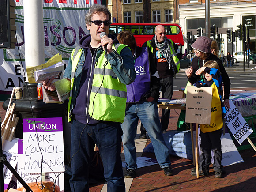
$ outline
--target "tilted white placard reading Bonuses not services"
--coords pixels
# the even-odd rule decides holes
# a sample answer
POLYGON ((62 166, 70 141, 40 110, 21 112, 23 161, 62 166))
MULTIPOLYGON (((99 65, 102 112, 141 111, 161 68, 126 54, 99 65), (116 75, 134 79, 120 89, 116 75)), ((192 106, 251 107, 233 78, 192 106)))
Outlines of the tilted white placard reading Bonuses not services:
POLYGON ((230 101, 230 109, 227 109, 227 114, 224 117, 226 125, 230 129, 230 132, 237 139, 237 142, 241 145, 243 141, 251 135, 252 128, 246 123, 244 117, 238 111, 236 106, 230 101))

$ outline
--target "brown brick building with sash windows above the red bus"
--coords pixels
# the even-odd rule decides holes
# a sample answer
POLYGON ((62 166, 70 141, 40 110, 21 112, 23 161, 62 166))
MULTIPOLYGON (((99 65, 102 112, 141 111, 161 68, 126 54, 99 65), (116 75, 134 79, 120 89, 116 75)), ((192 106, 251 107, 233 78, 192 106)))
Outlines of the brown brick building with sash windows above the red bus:
POLYGON ((177 0, 108 0, 113 23, 169 23, 177 20, 177 0), (175 20, 174 20, 175 19, 175 20))

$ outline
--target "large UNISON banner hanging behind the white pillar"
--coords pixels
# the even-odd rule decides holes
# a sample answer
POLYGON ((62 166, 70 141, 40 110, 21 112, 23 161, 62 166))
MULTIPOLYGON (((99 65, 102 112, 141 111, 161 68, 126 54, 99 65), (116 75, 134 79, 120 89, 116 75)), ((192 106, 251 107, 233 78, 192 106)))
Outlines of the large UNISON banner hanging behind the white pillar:
MULTIPOLYGON (((17 43, 15 49, 0 49, 0 100, 4 101, 12 88, 22 86, 26 80, 23 1, 15 0, 15 26, 17 43), (19 57, 20 53, 20 57, 19 57), (21 63, 22 62, 22 63, 21 63)), ((43 25, 45 61, 59 53, 65 64, 79 40, 89 31, 85 15, 93 4, 101 0, 43 0, 43 25)))

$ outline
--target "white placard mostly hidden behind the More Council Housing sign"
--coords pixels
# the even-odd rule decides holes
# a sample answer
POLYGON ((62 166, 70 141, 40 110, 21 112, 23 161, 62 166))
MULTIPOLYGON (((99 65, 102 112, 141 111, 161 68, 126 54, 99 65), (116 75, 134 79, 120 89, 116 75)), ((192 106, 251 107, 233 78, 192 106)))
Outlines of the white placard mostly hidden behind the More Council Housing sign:
MULTIPOLYGON (((18 149, 18 165, 17 172, 19 176, 22 177, 23 181, 26 183, 32 182, 41 182, 42 180, 55 182, 55 187, 60 189, 60 192, 64 192, 64 173, 55 172, 55 173, 44 173, 45 176, 42 176, 41 173, 24 173, 24 159, 23 159, 23 140, 19 140, 19 149, 18 149), (60 174, 60 175, 59 175, 60 174), (56 178, 57 177, 57 178, 56 178)), ((18 181, 17 188, 22 187, 22 184, 18 181)))

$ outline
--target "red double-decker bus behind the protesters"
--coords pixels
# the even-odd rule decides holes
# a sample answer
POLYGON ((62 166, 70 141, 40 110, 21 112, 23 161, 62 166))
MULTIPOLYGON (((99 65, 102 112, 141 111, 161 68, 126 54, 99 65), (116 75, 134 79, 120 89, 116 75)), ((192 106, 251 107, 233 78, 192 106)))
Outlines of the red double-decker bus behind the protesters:
POLYGON ((118 34, 122 30, 130 30, 136 39, 138 46, 151 40, 154 36, 154 30, 157 25, 163 25, 166 28, 166 37, 174 41, 175 44, 184 49, 184 41, 181 26, 177 23, 112 23, 110 25, 110 34, 118 34))

